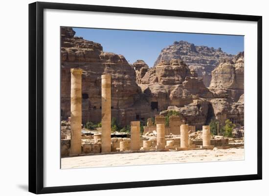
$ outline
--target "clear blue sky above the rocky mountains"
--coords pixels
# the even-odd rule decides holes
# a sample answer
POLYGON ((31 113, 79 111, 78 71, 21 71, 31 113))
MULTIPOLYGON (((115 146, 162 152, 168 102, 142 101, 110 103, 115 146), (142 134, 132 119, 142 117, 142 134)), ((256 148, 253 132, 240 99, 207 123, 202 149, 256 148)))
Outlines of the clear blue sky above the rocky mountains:
POLYGON ((141 59, 153 66, 161 49, 180 40, 195 45, 221 47, 228 54, 237 54, 244 50, 244 36, 92 28, 73 30, 76 32, 75 36, 100 43, 105 52, 124 55, 131 64, 141 59))

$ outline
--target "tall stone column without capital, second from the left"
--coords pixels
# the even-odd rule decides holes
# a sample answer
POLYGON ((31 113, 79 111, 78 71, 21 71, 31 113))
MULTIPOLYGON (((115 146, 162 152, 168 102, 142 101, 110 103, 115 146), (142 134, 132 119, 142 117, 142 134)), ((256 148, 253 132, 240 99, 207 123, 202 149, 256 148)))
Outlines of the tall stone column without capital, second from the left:
POLYGON ((111 152, 111 76, 102 75, 102 152, 111 152))

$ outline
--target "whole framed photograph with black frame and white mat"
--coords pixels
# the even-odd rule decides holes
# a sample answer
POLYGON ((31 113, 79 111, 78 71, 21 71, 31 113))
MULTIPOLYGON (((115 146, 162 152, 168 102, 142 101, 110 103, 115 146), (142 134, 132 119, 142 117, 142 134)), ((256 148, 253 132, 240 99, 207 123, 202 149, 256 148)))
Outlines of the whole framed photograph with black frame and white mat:
POLYGON ((29 4, 29 191, 262 179, 262 17, 29 4))

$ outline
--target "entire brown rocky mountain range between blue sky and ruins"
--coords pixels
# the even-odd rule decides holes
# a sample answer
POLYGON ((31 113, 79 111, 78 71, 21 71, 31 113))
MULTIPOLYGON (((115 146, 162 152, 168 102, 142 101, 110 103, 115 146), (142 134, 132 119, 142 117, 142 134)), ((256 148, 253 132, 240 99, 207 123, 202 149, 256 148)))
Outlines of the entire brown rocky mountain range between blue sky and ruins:
POLYGON ((112 117, 121 125, 130 125, 131 121, 136 120, 146 121, 170 109, 179 111, 185 122, 195 125, 197 129, 202 129, 202 125, 208 124, 213 117, 221 123, 230 119, 244 125, 244 53, 230 56, 221 49, 182 41, 174 45, 180 43, 185 45, 182 47, 185 51, 191 51, 184 53, 191 60, 186 55, 182 56, 181 49, 181 59, 168 55, 172 59, 159 60, 149 68, 142 60, 129 65, 124 56, 104 52, 101 44, 76 37, 72 28, 62 27, 62 119, 70 116, 70 68, 81 68, 84 124, 101 121, 101 75, 109 73, 112 76, 112 117), (195 53, 199 53, 199 58, 195 57, 195 53), (221 63, 218 66, 215 66, 217 60, 213 61, 213 56, 219 56, 221 63), (183 59, 194 62, 193 66, 214 67, 210 87, 204 85, 200 72, 183 59))

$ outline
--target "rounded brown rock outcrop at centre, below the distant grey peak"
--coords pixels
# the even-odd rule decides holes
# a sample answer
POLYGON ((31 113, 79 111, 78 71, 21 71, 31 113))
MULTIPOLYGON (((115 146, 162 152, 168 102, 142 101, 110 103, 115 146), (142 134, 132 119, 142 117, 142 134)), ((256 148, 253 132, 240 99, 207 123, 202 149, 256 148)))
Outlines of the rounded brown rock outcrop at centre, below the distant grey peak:
POLYGON ((140 80, 139 87, 148 96, 156 112, 169 106, 183 107, 193 102, 193 96, 211 98, 212 93, 204 86, 202 78, 183 61, 162 61, 150 68, 140 80))

